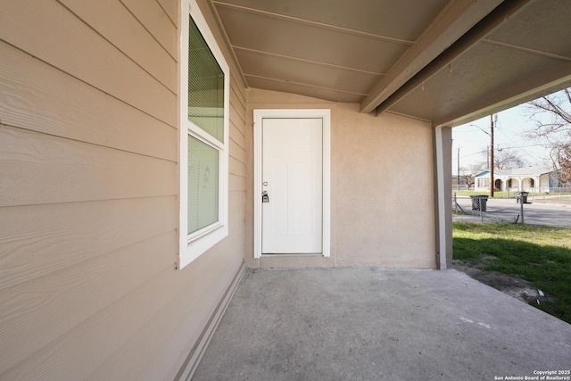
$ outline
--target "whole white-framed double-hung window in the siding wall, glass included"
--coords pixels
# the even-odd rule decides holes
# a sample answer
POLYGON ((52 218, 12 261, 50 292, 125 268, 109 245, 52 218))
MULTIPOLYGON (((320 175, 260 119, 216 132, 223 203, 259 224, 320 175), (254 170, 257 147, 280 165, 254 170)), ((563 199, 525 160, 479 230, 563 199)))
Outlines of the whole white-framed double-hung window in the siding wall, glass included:
POLYGON ((194 0, 183 0, 179 267, 228 236, 229 70, 194 0))

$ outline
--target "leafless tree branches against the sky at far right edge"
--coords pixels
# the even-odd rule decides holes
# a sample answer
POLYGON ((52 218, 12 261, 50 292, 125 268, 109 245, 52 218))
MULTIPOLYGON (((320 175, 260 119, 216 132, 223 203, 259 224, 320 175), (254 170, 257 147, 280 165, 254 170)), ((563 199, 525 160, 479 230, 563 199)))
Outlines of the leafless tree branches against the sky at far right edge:
POLYGON ((559 178, 571 180, 571 87, 528 103, 535 127, 525 137, 550 149, 550 158, 561 169, 559 178))

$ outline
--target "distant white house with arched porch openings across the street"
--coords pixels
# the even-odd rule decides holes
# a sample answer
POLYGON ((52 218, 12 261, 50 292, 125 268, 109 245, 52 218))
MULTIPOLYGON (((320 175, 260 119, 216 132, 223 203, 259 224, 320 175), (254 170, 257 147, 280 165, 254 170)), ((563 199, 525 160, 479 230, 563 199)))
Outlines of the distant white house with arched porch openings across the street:
MULTIPOLYGON (((494 170, 494 188, 499 191, 514 192, 550 192, 550 188, 559 186, 557 173, 548 167, 525 167, 512 170, 494 170)), ((476 175, 474 184, 476 191, 490 189, 490 170, 484 170, 476 175)))

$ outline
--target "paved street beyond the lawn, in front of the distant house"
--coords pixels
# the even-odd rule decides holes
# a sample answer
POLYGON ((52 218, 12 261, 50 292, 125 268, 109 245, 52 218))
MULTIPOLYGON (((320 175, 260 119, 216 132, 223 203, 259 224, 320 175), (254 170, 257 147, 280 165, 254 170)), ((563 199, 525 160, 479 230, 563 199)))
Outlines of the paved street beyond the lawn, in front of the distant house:
MULTIPOLYGON (((546 225, 571 228, 571 197, 551 196, 551 198, 528 198, 524 204, 524 222, 529 225, 546 225)), ((472 211, 472 200, 469 197, 458 197, 461 208, 471 215, 454 214, 453 220, 481 221, 479 211, 472 211)), ((452 207, 453 208, 453 207, 452 207)), ((521 205, 515 199, 488 198, 484 222, 514 222, 519 215, 521 222, 521 205)))

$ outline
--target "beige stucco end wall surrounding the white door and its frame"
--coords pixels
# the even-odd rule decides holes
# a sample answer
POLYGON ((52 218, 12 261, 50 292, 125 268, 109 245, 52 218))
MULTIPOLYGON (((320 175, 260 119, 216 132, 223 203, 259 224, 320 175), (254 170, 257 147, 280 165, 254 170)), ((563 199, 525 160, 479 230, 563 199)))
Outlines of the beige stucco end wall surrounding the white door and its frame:
MULTIPOLYGON (((252 152, 254 109, 331 110, 331 257, 252 256, 253 200, 246 204, 249 266, 434 268, 434 175, 429 123, 359 112, 359 104, 247 90, 246 140, 252 152)), ((248 158, 252 195, 252 157, 248 158)))

